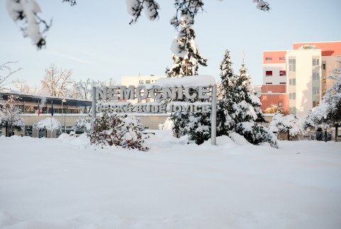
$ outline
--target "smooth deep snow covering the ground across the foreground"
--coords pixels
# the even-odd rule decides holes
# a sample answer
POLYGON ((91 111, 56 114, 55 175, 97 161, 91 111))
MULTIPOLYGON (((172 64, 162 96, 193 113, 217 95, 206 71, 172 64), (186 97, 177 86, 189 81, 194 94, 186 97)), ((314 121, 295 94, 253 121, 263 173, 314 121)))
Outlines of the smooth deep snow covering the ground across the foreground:
POLYGON ((341 228, 341 143, 217 143, 0 137, 0 228, 341 228))

